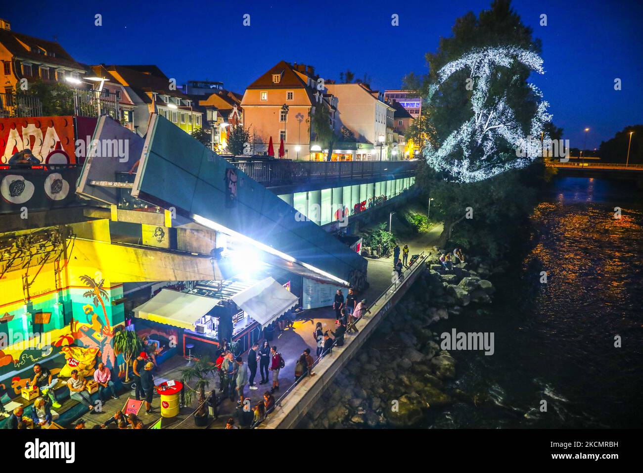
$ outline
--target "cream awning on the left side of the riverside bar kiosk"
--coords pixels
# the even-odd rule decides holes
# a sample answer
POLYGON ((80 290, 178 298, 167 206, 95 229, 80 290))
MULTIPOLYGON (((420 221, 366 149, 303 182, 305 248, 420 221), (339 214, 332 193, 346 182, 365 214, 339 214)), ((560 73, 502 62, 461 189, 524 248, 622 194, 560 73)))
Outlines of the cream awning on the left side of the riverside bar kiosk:
POLYGON ((212 297, 161 289, 152 299, 135 308, 134 315, 139 319, 194 330, 194 323, 218 303, 219 299, 212 297))

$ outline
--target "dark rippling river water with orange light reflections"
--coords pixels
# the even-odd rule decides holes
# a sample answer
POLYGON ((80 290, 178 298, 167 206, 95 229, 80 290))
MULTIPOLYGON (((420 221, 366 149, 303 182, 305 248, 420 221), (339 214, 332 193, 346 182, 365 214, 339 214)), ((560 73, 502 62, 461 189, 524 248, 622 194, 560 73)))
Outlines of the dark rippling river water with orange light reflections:
POLYGON ((491 313, 469 310, 437 330, 495 333, 493 356, 453 353, 456 387, 485 402, 457 403, 427 427, 642 425, 642 194, 625 181, 554 181, 525 256, 494 279, 491 313))

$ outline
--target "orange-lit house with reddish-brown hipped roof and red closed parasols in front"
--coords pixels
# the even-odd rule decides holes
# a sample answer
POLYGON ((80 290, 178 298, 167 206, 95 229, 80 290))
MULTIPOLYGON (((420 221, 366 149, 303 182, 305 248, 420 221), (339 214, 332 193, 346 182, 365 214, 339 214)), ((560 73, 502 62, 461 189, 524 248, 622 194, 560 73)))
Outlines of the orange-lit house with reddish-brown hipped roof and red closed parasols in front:
POLYGON ((246 88, 241 107, 254 137, 254 154, 266 153, 271 138, 276 156, 282 140, 284 158, 310 160, 311 148, 321 154, 321 147, 311 142, 310 117, 314 107, 329 107, 334 127, 334 99, 318 90, 319 80, 312 66, 282 60, 246 88))

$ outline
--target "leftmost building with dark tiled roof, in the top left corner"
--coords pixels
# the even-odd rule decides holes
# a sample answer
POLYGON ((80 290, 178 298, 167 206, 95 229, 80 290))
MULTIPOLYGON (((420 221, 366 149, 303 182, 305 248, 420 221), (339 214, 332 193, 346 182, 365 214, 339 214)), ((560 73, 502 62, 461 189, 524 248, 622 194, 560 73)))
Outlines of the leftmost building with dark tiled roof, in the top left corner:
POLYGON ((85 75, 85 68, 57 42, 12 32, 5 20, 0 20, 0 26, 1 93, 21 90, 22 79, 27 84, 36 80, 65 82, 68 77, 85 75))

